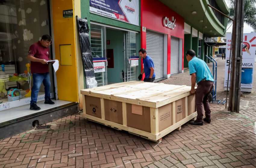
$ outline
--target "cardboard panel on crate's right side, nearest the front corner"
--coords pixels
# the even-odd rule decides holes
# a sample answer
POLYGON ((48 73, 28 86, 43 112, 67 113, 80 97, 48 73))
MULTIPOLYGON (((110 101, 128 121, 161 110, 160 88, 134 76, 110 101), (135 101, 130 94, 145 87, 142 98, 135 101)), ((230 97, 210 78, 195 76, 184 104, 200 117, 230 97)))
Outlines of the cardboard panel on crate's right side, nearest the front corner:
POLYGON ((173 125, 172 122, 172 103, 158 108, 158 127, 159 132, 173 125))

